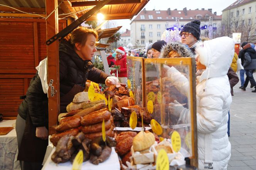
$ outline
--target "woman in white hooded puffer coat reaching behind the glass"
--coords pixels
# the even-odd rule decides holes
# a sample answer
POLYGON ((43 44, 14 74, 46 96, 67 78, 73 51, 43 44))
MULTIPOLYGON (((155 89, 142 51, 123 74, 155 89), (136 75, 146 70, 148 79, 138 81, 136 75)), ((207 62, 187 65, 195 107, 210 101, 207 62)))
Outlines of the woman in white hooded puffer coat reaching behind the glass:
MULTIPOLYGON (((234 41, 229 37, 219 37, 197 42, 195 53, 199 169, 225 170, 231 157, 227 120, 232 98, 227 71, 234 56, 234 41)), ((167 70, 168 76, 173 79, 180 76, 176 69, 171 68, 167 70)), ((189 88, 180 88, 187 93, 185 89, 189 88)), ((177 105, 177 101, 174 104, 177 105)), ((189 110, 175 105, 169 104, 174 113, 179 111, 181 122, 190 123, 189 110)))

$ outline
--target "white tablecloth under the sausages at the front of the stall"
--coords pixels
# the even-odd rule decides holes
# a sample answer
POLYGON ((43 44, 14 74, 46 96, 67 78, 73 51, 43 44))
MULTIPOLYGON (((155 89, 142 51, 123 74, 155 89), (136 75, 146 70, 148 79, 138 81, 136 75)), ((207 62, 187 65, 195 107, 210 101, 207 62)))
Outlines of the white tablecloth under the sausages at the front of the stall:
MULTIPOLYGON (((47 158, 47 161, 45 162, 42 170, 71 170, 72 163, 70 161, 56 164, 51 160, 51 156, 54 153, 54 151, 55 147, 53 148, 50 156, 47 158)), ((115 148, 112 148, 110 157, 103 163, 99 163, 99 165, 94 165, 89 161, 86 161, 83 162, 81 170, 120 170, 120 163, 118 160, 118 155, 115 152, 115 148)))

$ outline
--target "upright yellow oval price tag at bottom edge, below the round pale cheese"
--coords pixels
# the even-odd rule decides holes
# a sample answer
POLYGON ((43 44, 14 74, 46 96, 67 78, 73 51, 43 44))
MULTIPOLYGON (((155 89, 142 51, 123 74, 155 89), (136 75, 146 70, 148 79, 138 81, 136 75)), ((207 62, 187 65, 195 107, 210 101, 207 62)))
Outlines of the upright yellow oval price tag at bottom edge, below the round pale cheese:
POLYGON ((157 154, 157 170, 169 170, 169 158, 165 150, 161 149, 157 154))

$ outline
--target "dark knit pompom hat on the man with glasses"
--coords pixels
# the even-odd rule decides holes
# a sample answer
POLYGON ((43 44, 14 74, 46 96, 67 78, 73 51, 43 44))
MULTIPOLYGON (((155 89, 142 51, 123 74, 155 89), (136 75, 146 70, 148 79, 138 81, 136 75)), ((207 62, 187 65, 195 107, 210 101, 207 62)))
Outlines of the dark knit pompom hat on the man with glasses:
POLYGON ((189 23, 187 23, 186 25, 184 25, 184 27, 182 28, 182 30, 180 31, 180 33, 182 32, 190 32, 192 33, 195 38, 197 38, 197 40, 200 39, 200 21, 199 20, 193 20, 189 23))

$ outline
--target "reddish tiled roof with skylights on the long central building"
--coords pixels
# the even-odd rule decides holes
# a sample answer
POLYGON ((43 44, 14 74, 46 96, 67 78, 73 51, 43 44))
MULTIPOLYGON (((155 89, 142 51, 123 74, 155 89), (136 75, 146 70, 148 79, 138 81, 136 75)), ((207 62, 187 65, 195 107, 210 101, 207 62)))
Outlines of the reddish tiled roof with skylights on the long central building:
MULTIPOLYGON (((136 18, 133 21, 145 21, 145 20, 175 20, 175 17, 179 17, 179 20, 195 20, 197 19, 196 16, 201 15, 202 20, 204 20, 205 16, 212 16, 213 20, 221 20, 222 16, 221 15, 214 15, 211 11, 209 10, 151 10, 147 11, 145 8, 141 10, 140 13, 136 16, 136 18), (187 11, 187 15, 185 12, 187 11), (168 12, 170 12, 170 15, 168 15, 168 12), (144 15, 141 16, 141 15, 144 15), (149 16, 151 15, 151 16, 149 16), (153 19, 152 19, 153 17, 153 19), (161 19, 162 17, 162 19, 161 19), (145 18, 145 19, 143 19, 145 18), (151 19, 150 19, 151 18, 151 19)), ((200 19, 199 19, 200 20, 200 19)))

